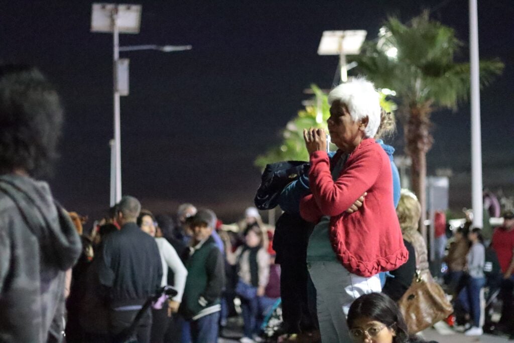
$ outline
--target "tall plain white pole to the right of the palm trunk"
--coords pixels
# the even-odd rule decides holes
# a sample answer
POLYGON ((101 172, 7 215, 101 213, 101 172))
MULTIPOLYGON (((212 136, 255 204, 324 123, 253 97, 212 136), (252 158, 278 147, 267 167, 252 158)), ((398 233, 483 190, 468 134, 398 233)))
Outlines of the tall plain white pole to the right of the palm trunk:
POLYGON ((480 127, 479 24, 476 0, 469 0, 469 55, 471 65, 471 198, 473 226, 483 227, 482 135, 480 127))

